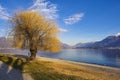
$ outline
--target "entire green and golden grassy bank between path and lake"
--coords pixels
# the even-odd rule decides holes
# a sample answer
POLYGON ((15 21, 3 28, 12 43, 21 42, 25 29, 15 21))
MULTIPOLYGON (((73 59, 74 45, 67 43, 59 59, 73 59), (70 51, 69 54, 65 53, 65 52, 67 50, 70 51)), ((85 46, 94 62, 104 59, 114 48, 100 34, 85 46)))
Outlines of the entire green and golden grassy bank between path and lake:
POLYGON ((25 57, 1 55, 0 61, 28 73, 34 80, 120 80, 120 70, 94 68, 62 60, 39 58, 27 62, 25 57))

